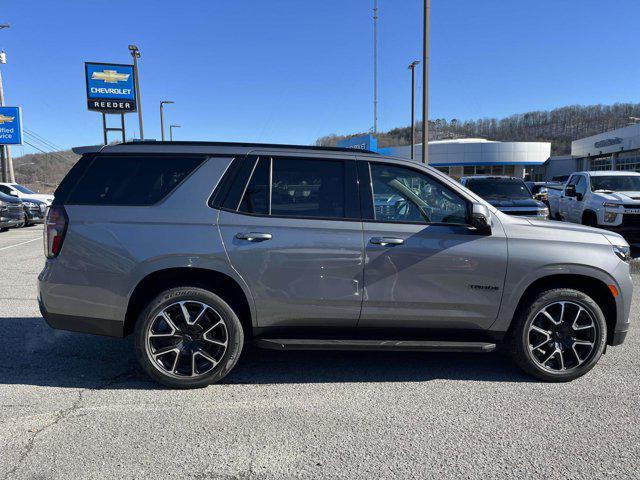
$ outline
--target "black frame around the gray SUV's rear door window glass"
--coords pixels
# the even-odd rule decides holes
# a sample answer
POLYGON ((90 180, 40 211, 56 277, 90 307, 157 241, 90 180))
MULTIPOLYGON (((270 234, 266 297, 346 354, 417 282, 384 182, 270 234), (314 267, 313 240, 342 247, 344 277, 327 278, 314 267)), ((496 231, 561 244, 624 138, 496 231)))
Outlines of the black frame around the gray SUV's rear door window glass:
MULTIPOLYGON (((344 194, 345 194, 345 214, 349 211, 349 207, 347 205, 347 198, 346 196, 348 195, 348 191, 349 188, 354 188, 355 187, 355 194, 354 197, 356 199, 360 198, 359 195, 359 185, 358 185, 358 170, 357 170, 357 165, 358 165, 358 160, 354 159, 354 158, 340 158, 340 157, 336 157, 336 158, 324 158, 324 157, 307 157, 307 156, 289 156, 289 155, 282 155, 282 156, 278 156, 276 155, 253 155, 252 156, 253 159, 255 159, 255 163, 253 166, 253 169, 251 171, 251 174, 248 176, 247 181, 244 185, 244 188, 242 190, 242 195, 240 196, 240 199, 238 200, 238 205, 236 206, 235 209, 233 208, 229 208, 229 207, 223 207, 223 206, 219 206, 219 207, 213 207, 213 208, 217 208, 218 210, 221 211, 225 211, 225 212, 229 212, 229 213, 235 213, 238 215, 247 215, 250 217, 265 217, 265 218, 280 218, 280 219, 292 219, 292 220, 322 220, 322 221, 335 221, 335 222, 362 222, 362 211, 360 208, 360 205, 358 204, 357 207, 355 208, 355 210, 357 210, 357 216, 355 217, 318 217, 318 216, 292 216, 292 215, 274 215, 272 213, 272 206, 271 206, 271 198, 272 198, 272 191, 273 191, 273 163, 274 163, 274 159, 278 159, 278 158, 283 158, 283 159, 291 159, 291 158, 295 158, 298 160, 310 160, 310 161, 318 161, 318 162, 327 162, 327 161, 331 161, 331 162, 340 162, 342 163, 343 166, 343 170, 344 170, 344 194), (258 162, 260 161, 260 158, 269 158, 269 213, 250 213, 250 212, 241 212, 240 210, 238 210, 240 208, 240 205, 242 203, 242 199, 244 198, 244 194, 247 190, 247 188, 249 187, 249 183, 251 182, 251 178, 253 177, 253 174, 255 172, 255 169, 258 166, 258 162), (350 186, 351 185, 351 186, 350 186)), ((246 159, 246 157, 245 157, 246 159)), ((245 160, 243 159, 243 160, 245 160)), ((224 201, 222 203, 225 203, 224 201)))

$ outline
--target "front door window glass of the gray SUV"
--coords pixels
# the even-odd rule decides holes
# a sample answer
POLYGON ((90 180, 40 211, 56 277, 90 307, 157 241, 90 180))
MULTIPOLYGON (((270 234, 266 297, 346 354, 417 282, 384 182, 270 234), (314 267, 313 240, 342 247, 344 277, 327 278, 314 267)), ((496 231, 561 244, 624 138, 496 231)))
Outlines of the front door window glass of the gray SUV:
POLYGON ((428 175, 371 163, 375 219, 402 223, 467 223, 467 202, 428 175))

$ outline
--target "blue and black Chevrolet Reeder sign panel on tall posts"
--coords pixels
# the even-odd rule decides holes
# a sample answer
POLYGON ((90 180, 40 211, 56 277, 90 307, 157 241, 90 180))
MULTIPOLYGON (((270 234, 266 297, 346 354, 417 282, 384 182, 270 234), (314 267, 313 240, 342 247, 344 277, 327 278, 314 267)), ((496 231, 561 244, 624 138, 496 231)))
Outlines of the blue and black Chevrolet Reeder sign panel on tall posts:
POLYGON ((89 110, 104 113, 136 111, 133 65, 85 62, 84 69, 89 110))

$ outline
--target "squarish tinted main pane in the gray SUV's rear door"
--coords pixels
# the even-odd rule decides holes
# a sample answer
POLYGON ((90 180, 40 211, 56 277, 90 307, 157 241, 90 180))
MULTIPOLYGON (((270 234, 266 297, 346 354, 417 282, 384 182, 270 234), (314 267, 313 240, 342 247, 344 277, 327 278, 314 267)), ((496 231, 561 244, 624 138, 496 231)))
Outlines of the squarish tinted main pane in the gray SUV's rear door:
POLYGON ((271 214, 344 218, 345 164, 342 161, 274 158, 271 214))

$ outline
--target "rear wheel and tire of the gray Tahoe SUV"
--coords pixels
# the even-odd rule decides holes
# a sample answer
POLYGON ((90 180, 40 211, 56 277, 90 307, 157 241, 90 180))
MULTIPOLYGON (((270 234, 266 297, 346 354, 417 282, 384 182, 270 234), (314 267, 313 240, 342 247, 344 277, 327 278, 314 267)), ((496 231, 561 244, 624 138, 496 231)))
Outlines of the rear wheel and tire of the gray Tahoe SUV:
POLYGON ((244 333, 222 298, 202 288, 178 287, 160 293, 140 313, 134 343, 140 366, 156 382, 201 388, 235 366, 244 333))

